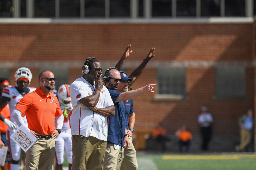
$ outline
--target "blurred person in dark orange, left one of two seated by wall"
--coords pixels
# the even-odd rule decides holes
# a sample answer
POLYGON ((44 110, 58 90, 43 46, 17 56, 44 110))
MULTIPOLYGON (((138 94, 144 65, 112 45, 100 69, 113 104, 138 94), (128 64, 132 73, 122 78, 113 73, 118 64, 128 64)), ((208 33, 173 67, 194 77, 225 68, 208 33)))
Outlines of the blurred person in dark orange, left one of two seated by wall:
POLYGON ((152 137, 157 142, 161 142, 162 151, 164 152, 166 150, 166 128, 162 127, 161 125, 158 125, 152 131, 152 137))

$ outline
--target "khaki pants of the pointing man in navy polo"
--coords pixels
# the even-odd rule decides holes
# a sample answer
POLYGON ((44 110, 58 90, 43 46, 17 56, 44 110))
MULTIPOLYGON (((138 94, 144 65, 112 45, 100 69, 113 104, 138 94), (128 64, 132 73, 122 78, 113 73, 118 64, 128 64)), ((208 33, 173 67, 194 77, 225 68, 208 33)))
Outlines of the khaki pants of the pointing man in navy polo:
POLYGON ((124 159, 124 148, 119 146, 114 149, 114 144, 107 142, 107 149, 103 162, 103 170, 119 170, 124 159))

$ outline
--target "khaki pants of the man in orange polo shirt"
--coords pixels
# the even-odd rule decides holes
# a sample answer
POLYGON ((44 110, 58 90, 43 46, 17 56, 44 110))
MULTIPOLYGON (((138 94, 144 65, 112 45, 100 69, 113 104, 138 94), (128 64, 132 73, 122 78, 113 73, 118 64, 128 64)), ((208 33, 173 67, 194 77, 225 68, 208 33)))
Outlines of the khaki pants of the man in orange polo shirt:
POLYGON ((56 139, 37 139, 27 150, 25 170, 52 170, 56 139))

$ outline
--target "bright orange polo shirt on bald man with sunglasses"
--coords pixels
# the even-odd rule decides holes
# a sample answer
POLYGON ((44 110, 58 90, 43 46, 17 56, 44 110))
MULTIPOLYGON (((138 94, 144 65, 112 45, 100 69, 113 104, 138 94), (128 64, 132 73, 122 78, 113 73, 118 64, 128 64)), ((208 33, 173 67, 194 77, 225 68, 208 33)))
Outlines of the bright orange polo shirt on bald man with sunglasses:
POLYGON ((46 94, 37 88, 34 92, 27 93, 16 105, 15 109, 26 114, 28 128, 43 135, 52 134, 55 129, 55 116, 61 116, 57 97, 52 93, 46 94))

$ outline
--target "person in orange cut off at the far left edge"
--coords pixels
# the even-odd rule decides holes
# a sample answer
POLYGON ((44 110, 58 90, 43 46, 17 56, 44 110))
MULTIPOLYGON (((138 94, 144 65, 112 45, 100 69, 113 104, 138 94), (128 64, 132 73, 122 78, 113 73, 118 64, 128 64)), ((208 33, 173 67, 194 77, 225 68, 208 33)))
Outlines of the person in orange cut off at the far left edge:
MULTIPOLYGON (((10 85, 9 81, 6 78, 0 78, 0 96, 2 96, 3 89, 8 87, 9 85, 10 85)), ((8 104, 0 107, 0 114, 4 118, 10 120, 10 109, 9 109, 8 104)), ((7 170, 8 169, 7 168, 8 163, 11 163, 9 141, 8 141, 8 138, 6 138, 7 128, 8 128, 8 125, 6 125, 3 121, 0 121, 0 132, 1 132, 0 147, 2 147, 2 146, 7 146, 8 147, 7 156, 6 156, 6 159, 5 159, 5 164, 4 164, 4 166, 1 166, 1 170, 7 170)))

